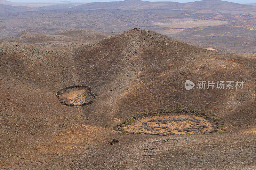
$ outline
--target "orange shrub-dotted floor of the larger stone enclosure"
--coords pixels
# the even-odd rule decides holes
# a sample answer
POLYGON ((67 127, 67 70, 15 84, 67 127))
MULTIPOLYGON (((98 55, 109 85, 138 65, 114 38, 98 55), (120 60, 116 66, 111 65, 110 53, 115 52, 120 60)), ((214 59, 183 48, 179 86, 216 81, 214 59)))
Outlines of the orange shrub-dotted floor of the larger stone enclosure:
POLYGON ((187 113, 142 115, 117 126, 123 133, 152 135, 197 135, 218 130, 218 122, 202 115, 187 113))

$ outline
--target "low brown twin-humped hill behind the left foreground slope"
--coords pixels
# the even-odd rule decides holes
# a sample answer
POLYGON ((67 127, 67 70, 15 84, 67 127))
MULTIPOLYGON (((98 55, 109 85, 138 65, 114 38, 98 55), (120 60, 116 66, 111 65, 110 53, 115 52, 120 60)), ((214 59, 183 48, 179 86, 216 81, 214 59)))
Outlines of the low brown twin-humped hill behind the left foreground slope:
POLYGON ((0 41, 13 41, 13 42, 25 42, 25 43, 42 43, 49 41, 63 41, 63 42, 77 42, 77 41, 98 41, 106 38, 113 33, 101 33, 91 30, 78 30, 71 29, 63 31, 53 35, 47 34, 35 34, 28 32, 21 32, 10 37, 0 38, 0 41))

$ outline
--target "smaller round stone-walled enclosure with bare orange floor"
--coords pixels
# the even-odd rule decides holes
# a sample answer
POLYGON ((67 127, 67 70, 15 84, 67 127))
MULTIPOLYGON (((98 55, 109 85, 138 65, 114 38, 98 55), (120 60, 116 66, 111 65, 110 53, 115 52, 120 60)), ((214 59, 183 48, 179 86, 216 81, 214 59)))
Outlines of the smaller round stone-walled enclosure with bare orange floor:
POLYGON ((60 89, 56 96, 64 105, 83 106, 91 104, 96 94, 92 92, 88 85, 70 85, 60 89))

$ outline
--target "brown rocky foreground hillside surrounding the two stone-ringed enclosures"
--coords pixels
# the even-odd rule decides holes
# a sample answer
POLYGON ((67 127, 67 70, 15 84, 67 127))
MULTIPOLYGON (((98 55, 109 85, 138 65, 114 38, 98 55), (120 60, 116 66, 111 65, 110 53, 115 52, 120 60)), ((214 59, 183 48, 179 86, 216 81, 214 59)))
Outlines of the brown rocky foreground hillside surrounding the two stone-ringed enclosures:
POLYGON ((256 55, 221 54, 141 29, 70 48, 0 43, 0 167, 10 169, 255 168, 256 55), (185 90, 243 80, 243 90, 185 90), (83 107, 55 96, 90 85, 83 107), (138 111, 182 105, 213 113, 223 134, 154 136, 112 128, 138 111), (105 142, 115 138, 119 143, 105 142), (11 149, 10 149, 11 148, 11 149))

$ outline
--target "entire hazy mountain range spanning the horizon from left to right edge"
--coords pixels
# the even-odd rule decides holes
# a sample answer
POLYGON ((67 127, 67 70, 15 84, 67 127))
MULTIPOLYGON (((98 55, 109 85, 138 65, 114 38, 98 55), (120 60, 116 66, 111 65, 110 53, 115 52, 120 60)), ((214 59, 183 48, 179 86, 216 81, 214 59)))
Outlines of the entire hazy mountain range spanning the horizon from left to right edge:
POLYGON ((95 9, 193 9, 217 11, 256 11, 256 4, 237 4, 219 0, 204 0, 189 3, 178 2, 148 2, 140 0, 125 0, 113 2, 76 3, 76 2, 28 2, 17 3, 0 0, 0 13, 15 13, 23 11, 50 10, 95 10, 95 9))

